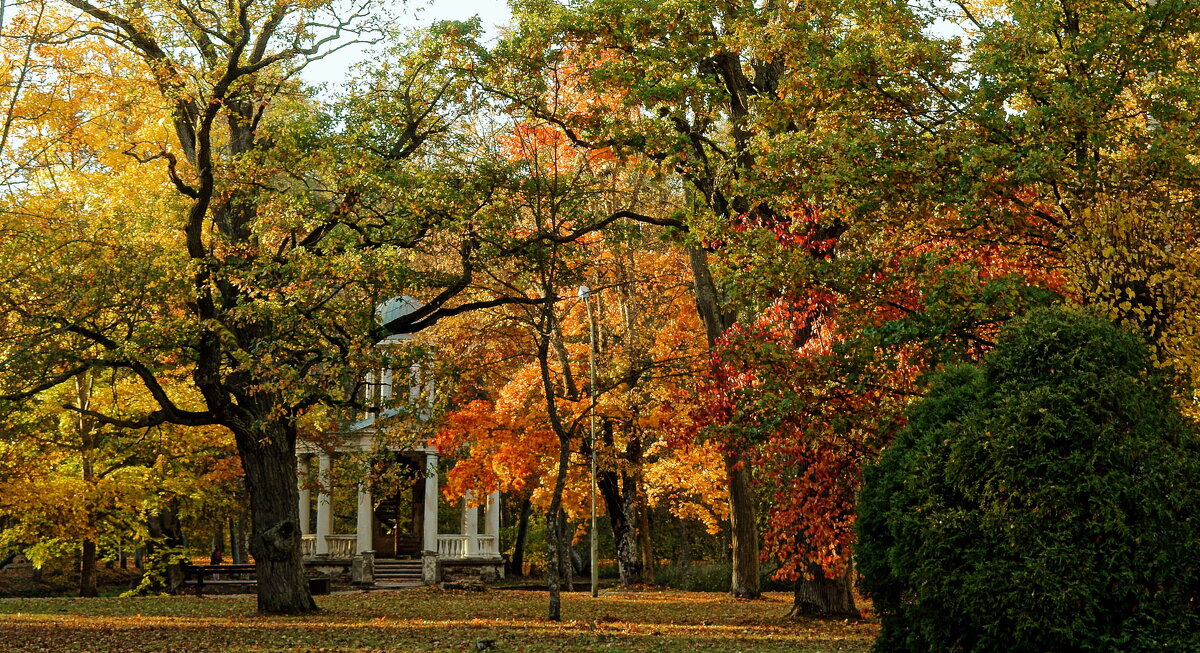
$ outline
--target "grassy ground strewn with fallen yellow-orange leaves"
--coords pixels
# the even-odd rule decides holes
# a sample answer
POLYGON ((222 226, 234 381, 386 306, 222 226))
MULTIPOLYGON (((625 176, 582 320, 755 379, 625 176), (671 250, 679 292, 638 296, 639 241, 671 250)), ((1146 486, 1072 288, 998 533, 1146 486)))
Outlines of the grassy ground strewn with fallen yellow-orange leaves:
POLYGON ((342 593, 307 617, 259 617, 248 597, 0 599, 4 651, 866 652, 874 622, 784 621, 790 597, 756 601, 692 592, 563 597, 544 592, 342 593))

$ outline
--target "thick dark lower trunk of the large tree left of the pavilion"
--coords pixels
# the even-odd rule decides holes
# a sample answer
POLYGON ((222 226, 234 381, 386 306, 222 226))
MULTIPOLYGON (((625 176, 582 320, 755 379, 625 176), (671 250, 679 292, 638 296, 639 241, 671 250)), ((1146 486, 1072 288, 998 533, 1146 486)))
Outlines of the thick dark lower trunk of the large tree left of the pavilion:
POLYGON ((300 547, 295 427, 268 423, 234 429, 250 495, 251 540, 258 579, 258 611, 296 615, 317 610, 308 593, 300 547))

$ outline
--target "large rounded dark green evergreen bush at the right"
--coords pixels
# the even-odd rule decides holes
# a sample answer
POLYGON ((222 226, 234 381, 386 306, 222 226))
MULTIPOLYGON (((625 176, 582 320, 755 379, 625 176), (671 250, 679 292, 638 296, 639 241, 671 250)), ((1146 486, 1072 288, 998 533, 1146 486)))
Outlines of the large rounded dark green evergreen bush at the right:
POLYGON ((1194 651, 1195 435, 1146 347, 1038 310, 866 474, 877 651, 1194 651))

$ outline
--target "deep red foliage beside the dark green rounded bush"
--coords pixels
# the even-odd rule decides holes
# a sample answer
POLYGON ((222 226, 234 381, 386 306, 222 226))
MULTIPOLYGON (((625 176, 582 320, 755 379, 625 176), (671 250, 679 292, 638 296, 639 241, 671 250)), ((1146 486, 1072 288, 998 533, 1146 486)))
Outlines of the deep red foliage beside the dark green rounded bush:
MULTIPOLYGON (((841 230, 822 224, 806 206, 782 216, 746 215, 733 228, 752 229, 767 230, 780 250, 800 250, 809 260, 828 264, 839 256, 832 234, 841 230)), ((691 432, 718 439, 754 467, 772 498, 761 551, 780 562, 778 577, 802 577, 811 565, 829 577, 845 570, 862 468, 904 425, 920 375, 940 364, 931 352, 946 347, 944 337, 883 341, 871 334, 929 311, 935 299, 926 288, 949 280, 962 288, 965 305, 953 308, 967 317, 955 325, 955 337, 960 355, 970 359, 984 353, 1010 317, 974 300, 980 287, 1012 278, 1061 292, 1061 276, 1048 271, 1052 268, 1028 239, 968 241, 947 235, 949 228, 935 229, 894 238, 889 254, 850 283, 836 276, 827 284, 811 277, 776 283, 793 290, 752 322, 728 329, 713 354, 691 432)))

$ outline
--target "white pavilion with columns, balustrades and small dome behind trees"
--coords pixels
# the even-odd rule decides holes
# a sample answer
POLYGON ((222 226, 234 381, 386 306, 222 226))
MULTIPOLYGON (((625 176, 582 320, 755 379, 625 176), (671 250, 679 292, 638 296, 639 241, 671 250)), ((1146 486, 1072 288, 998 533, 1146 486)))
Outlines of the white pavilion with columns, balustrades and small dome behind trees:
MULTIPOLYGON (((378 313, 386 323, 418 306, 412 298, 396 298, 382 304, 378 313)), ((402 346, 410 337, 390 336, 379 346, 402 346)), ((406 399, 397 393, 407 391, 407 405, 424 403, 427 418, 427 407, 433 401, 433 379, 419 364, 407 372, 380 370, 368 373, 367 403, 376 407, 395 405, 406 399), (401 384, 401 377, 408 377, 406 384, 401 384)), ((407 473, 400 474, 404 480, 390 489, 377 487, 374 495, 362 483, 356 484, 354 528, 342 532, 349 531, 344 515, 349 513, 350 499, 341 497, 336 490, 335 457, 374 451, 378 425, 396 414, 396 408, 368 411, 344 432, 330 438, 336 443, 332 448, 329 441, 323 447, 304 441, 296 444, 305 565, 331 573, 349 570, 356 583, 394 587, 468 579, 487 582, 503 577, 499 492, 482 501, 470 495, 461 499, 452 513, 461 511, 462 517, 456 520, 455 528, 446 528, 456 532, 440 532, 438 453, 432 447, 389 448, 395 465, 407 468, 407 473), (314 486, 318 487, 316 492, 314 486), (480 505, 472 507, 473 503, 480 505), (338 516, 342 519, 336 519, 338 516), (338 532, 335 532, 335 523, 343 525, 336 529, 338 532)))

